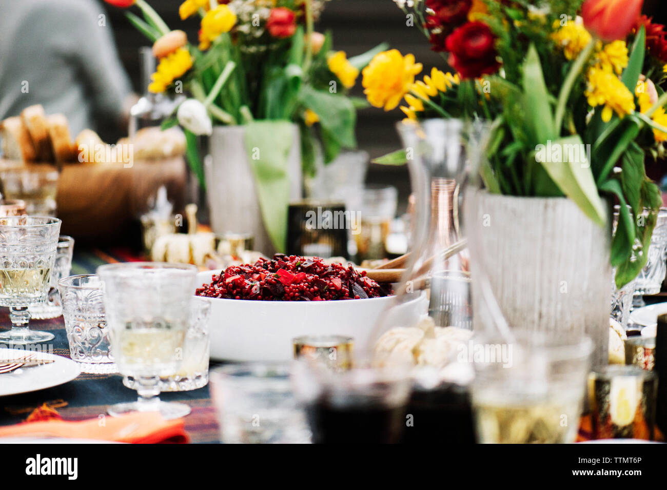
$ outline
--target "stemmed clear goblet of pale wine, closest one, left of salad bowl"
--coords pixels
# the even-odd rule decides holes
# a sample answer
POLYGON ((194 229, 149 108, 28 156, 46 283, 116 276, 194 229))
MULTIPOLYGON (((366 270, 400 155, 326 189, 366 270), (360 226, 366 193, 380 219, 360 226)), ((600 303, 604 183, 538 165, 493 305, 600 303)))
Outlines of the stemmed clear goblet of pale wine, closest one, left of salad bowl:
POLYGON ((187 415, 188 405, 159 399, 159 380, 175 375, 181 366, 197 267, 119 263, 101 265, 97 275, 104 282, 107 327, 118 371, 137 380, 139 395, 136 402, 111 405, 109 414, 159 411, 165 419, 187 415))

